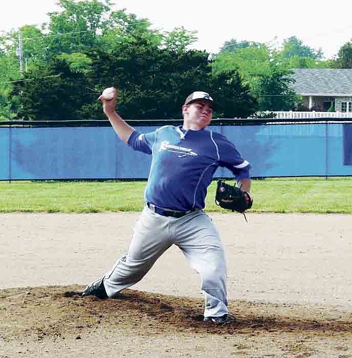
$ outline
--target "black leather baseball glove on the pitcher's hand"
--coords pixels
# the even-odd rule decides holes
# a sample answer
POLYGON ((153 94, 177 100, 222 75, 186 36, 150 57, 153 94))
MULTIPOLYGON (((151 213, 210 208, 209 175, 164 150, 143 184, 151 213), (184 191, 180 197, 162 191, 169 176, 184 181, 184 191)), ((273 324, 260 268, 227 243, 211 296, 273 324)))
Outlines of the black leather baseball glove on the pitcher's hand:
POLYGON ((222 180, 217 181, 215 204, 224 209, 245 213, 253 204, 253 199, 246 191, 236 186, 226 184, 222 180))

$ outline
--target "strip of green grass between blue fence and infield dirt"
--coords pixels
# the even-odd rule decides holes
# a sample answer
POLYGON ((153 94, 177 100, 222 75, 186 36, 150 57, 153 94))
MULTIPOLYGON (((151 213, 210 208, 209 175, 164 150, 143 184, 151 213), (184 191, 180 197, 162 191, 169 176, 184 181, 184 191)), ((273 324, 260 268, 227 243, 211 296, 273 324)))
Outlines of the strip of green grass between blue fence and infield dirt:
MULTIPOLYGON (((233 183, 233 181, 228 181, 233 183)), ((0 212, 141 211, 146 182, 0 182, 0 212)), ((209 189, 207 211, 226 212, 209 189)), ((253 180, 251 212, 352 213, 352 177, 253 180)))

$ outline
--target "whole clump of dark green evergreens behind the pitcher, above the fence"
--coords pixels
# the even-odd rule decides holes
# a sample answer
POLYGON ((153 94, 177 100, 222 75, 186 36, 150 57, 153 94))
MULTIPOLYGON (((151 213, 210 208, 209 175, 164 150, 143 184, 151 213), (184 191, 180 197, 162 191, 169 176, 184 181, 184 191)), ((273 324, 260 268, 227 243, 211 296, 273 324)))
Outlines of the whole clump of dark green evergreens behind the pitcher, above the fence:
POLYGON ((118 110, 126 119, 181 119, 182 103, 194 89, 216 98, 215 116, 247 117, 254 112, 256 101, 236 72, 212 77, 208 53, 171 51, 145 41, 131 39, 112 54, 95 48, 83 58, 75 53, 60 55, 48 68, 31 71, 28 76, 35 80, 14 85, 13 95, 21 103, 18 116, 105 119, 97 98, 111 85, 119 88, 118 110), (52 74, 58 76, 42 78, 52 74))

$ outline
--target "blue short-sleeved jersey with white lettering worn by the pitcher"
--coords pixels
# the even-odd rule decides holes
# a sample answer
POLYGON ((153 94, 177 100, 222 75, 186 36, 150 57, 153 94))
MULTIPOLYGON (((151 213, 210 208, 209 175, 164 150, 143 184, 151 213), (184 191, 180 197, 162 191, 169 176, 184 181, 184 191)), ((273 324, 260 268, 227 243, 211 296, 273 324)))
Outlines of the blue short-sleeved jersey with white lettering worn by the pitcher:
POLYGON ((250 164, 219 133, 164 126, 150 133, 134 131, 128 145, 152 154, 145 189, 146 202, 158 207, 187 211, 203 209, 207 187, 215 170, 226 167, 237 180, 249 178, 250 164))

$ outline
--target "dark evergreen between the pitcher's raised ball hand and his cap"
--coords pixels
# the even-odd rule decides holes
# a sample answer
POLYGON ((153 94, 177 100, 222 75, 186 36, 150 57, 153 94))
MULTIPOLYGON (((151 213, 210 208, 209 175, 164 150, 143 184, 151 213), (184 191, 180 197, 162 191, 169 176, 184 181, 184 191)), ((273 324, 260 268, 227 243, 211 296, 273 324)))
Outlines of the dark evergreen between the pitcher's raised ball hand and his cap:
MULTIPOLYGON (((119 113, 126 119, 180 119, 181 104, 194 87, 209 87, 211 68, 203 51, 175 52, 142 37, 124 42, 109 56, 100 49, 90 56, 95 63, 95 88, 117 86, 119 113)), ((100 108, 85 109, 101 118, 100 108)))

